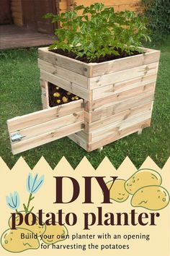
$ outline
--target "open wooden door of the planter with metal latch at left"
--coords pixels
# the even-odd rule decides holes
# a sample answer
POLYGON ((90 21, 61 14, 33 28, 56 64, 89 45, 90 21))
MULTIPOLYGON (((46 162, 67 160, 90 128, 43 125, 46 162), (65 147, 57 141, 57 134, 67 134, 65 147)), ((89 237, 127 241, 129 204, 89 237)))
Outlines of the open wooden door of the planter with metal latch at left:
POLYGON ((7 121, 12 153, 17 154, 84 129, 83 100, 7 121))

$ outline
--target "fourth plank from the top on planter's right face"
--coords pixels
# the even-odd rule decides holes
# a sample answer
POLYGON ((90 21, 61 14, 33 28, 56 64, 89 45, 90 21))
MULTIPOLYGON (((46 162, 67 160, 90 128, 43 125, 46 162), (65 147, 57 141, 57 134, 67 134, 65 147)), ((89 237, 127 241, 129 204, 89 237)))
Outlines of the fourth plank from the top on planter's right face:
POLYGON ((126 101, 130 98, 138 97, 141 93, 149 93, 152 92, 154 94, 155 83, 151 83, 148 85, 142 85, 138 88, 133 88, 131 90, 126 90, 122 93, 117 93, 115 95, 111 95, 109 97, 104 97, 98 99, 96 101, 91 101, 86 103, 85 110, 86 111, 97 111, 99 109, 107 108, 117 102, 126 101))

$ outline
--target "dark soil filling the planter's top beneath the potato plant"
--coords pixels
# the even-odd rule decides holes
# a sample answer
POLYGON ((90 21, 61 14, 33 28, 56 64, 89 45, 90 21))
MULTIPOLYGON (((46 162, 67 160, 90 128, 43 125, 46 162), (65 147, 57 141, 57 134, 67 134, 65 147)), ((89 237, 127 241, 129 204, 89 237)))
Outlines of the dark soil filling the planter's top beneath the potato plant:
POLYGON ((131 51, 130 54, 127 54, 125 51, 122 51, 120 48, 115 49, 119 52, 120 55, 106 55, 106 56, 100 56, 99 58, 93 59, 92 61, 89 61, 88 57, 86 55, 82 56, 81 58, 76 58, 76 54, 74 54, 73 52, 69 52, 69 51, 64 51, 63 49, 53 49, 50 50, 55 54, 61 54, 63 56, 67 56, 71 59, 77 59, 79 61, 85 62, 85 63, 101 63, 101 62, 105 62, 105 61, 112 61, 114 59, 121 59, 121 58, 125 58, 125 57, 129 57, 129 56, 135 56, 140 54, 138 51, 131 51))

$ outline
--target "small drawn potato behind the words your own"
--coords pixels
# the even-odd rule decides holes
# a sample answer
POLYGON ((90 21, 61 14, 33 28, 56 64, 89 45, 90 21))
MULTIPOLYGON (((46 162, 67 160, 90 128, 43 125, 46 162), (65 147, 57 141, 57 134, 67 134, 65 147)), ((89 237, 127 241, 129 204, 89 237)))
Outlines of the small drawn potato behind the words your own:
POLYGON ((45 233, 42 235, 42 240, 46 244, 55 244, 65 240, 67 234, 68 230, 66 229, 66 226, 61 226, 58 223, 55 223, 55 226, 46 226, 45 233))

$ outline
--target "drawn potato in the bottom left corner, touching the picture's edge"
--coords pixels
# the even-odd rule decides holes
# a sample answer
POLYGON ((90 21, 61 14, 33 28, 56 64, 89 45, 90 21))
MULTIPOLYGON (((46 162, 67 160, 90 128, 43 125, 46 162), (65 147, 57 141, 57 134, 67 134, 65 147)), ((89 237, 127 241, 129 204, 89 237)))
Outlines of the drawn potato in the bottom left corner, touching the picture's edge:
POLYGON ((27 229, 7 229, 1 235, 1 246, 9 252, 24 252, 27 249, 38 249, 38 239, 21 239, 22 234, 33 234, 27 229))

